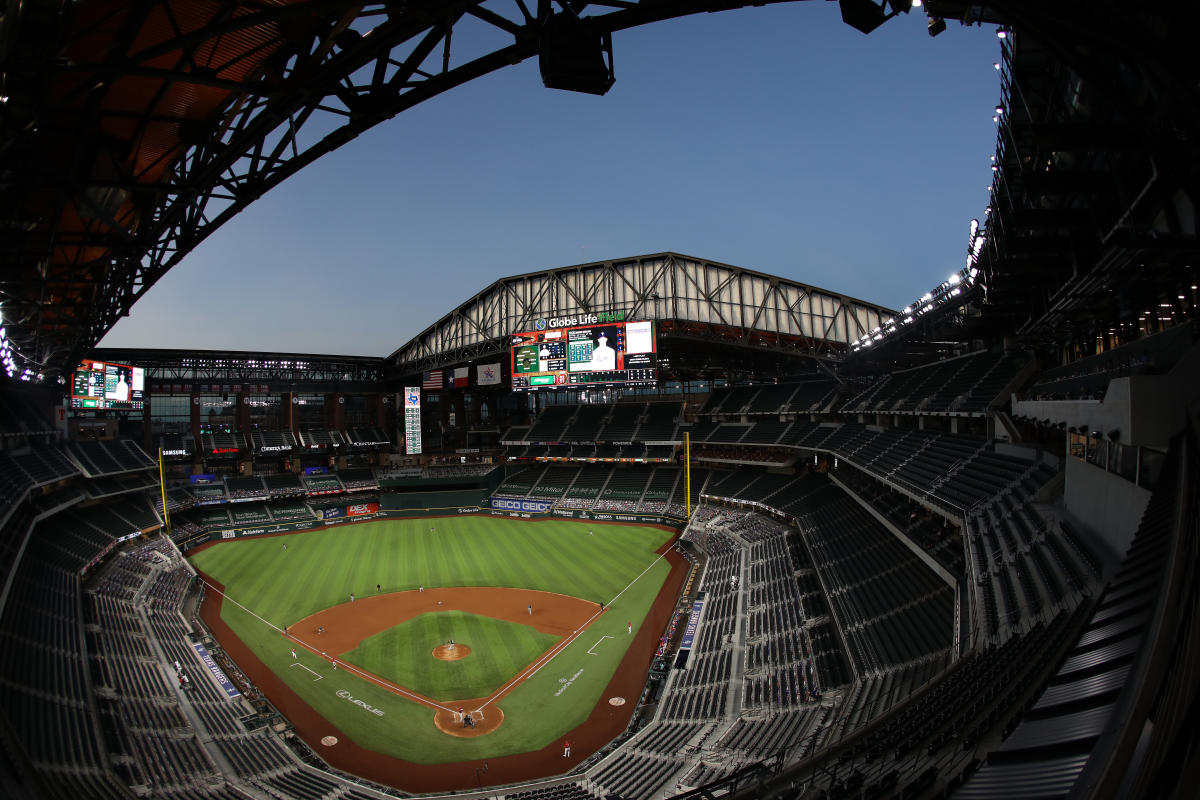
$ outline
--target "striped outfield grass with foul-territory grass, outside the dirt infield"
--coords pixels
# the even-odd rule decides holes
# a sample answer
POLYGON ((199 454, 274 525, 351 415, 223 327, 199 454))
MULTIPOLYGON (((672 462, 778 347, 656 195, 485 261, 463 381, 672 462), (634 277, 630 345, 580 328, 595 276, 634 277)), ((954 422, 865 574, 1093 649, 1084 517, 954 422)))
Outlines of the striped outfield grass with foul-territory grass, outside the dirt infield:
POLYGON ((625 654, 631 639, 626 624, 637 631, 670 572, 654 553, 670 537, 641 525, 444 517, 232 540, 192 560, 224 584, 222 618, 229 627, 343 734, 370 750, 437 764, 538 750, 583 722, 625 654), (346 602, 352 591, 360 597, 374 594, 377 583, 385 593, 420 585, 538 589, 604 601, 607 610, 499 700, 505 720, 497 732, 456 739, 434 730, 432 710, 352 669, 331 670, 325 660, 304 650, 293 661, 278 628, 346 602), (338 697, 341 690, 383 715, 338 697))

